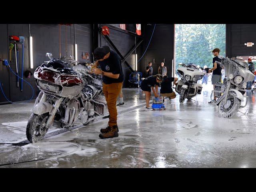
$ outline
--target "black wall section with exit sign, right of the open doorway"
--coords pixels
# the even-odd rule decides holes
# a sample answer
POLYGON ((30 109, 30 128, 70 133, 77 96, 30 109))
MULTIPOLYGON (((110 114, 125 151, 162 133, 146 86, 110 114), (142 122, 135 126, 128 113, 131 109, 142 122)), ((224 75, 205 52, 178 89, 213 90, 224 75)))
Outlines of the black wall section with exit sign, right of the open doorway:
POLYGON ((226 56, 256 55, 256 24, 226 25, 226 56), (252 47, 244 43, 253 42, 252 47))

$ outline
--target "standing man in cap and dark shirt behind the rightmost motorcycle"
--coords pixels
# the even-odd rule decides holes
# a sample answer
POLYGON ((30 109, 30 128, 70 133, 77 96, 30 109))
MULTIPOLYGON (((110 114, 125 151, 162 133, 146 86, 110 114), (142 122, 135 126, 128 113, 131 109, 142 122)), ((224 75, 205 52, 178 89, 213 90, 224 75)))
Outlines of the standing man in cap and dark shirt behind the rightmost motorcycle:
MULTIPOLYGON (((216 61, 220 62, 220 58, 218 58, 218 55, 220 54, 220 49, 215 48, 212 50, 212 53, 214 55, 214 58, 212 58, 212 68, 209 70, 209 73, 212 72, 212 85, 213 90, 215 90, 215 84, 217 82, 221 82, 221 67, 220 64, 217 64, 216 61)), ((215 92, 214 92, 214 100, 216 101, 215 92)), ((209 101, 208 103, 212 103, 212 101, 209 101)))

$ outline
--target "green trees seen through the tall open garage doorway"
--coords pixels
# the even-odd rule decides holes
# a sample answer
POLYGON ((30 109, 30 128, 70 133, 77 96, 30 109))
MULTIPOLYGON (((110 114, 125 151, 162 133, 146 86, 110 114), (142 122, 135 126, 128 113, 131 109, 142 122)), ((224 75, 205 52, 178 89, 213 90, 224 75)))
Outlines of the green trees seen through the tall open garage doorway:
POLYGON ((220 55, 226 56, 226 24, 176 24, 176 74, 179 63, 211 68, 214 48, 219 48, 220 55))

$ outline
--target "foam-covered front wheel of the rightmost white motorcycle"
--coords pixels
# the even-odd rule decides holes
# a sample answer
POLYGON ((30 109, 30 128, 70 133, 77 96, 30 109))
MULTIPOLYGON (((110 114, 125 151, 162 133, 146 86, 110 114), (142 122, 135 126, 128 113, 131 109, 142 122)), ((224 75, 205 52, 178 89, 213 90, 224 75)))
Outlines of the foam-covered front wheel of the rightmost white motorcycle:
POLYGON ((224 118, 230 118, 240 107, 241 101, 232 94, 228 94, 227 102, 224 103, 224 98, 220 101, 218 105, 218 112, 224 118))

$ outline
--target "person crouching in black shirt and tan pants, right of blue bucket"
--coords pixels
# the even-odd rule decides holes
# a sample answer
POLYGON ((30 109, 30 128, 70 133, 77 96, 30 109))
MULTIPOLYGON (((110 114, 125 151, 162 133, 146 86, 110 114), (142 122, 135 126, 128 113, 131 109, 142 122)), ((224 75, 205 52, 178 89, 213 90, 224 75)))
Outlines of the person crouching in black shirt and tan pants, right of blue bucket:
POLYGON ((176 98, 175 92, 172 90, 172 82, 174 85, 177 85, 178 78, 176 77, 168 77, 167 75, 163 76, 163 80, 161 82, 160 94, 163 97, 168 97, 168 103, 171 103, 171 99, 176 98))

